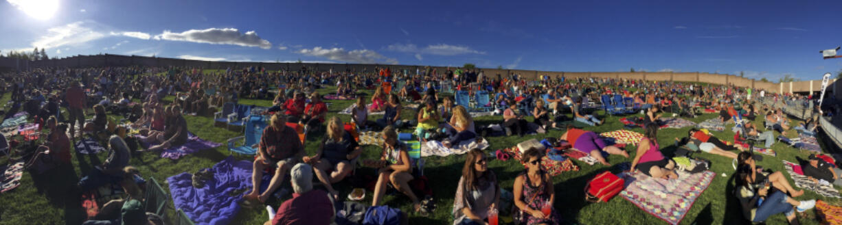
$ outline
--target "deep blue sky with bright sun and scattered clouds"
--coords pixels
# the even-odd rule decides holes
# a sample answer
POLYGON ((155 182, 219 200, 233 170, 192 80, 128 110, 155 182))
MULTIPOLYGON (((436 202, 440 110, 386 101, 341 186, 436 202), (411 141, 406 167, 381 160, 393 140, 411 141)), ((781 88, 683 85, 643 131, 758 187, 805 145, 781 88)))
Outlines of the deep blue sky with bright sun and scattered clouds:
POLYGON ((842 59, 819 53, 842 44, 839 0, 0 1, 0 54, 37 47, 51 57, 633 68, 770 81, 842 70, 842 59))

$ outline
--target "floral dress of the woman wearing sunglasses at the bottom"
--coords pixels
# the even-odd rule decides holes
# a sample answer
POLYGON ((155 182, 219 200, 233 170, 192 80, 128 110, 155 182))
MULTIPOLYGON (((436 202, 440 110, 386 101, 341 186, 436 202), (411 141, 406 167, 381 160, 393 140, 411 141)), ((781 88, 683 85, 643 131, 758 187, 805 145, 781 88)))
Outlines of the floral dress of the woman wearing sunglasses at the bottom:
MULTIPOLYGON (((526 172, 520 173, 524 177, 524 186, 523 186, 523 200, 524 202, 534 210, 541 210, 541 207, 544 206, 544 202, 550 200, 550 193, 546 191, 546 181, 541 181, 541 186, 532 186, 532 182, 530 181, 529 175, 526 175, 526 172)), ((544 176, 544 172, 541 172, 541 177, 544 176)), ((516 207, 515 207, 516 208, 516 207)), ((523 217, 520 217, 520 222, 518 224, 540 224, 540 223, 547 223, 547 224, 559 224, 561 223, 561 215, 558 214, 555 207, 552 208, 552 212, 550 213, 550 217, 548 219, 536 218, 532 217, 529 213, 523 212, 522 210, 518 210, 522 213, 523 217)))

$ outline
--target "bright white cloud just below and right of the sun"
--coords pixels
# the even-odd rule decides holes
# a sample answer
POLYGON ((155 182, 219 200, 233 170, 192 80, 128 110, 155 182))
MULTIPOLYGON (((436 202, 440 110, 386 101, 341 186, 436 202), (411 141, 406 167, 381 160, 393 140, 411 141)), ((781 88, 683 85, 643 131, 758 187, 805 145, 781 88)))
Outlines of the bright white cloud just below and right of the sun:
POLYGON ((83 44, 105 37, 105 34, 88 27, 88 25, 89 23, 80 21, 47 29, 47 34, 32 42, 32 46, 52 49, 63 45, 83 44))

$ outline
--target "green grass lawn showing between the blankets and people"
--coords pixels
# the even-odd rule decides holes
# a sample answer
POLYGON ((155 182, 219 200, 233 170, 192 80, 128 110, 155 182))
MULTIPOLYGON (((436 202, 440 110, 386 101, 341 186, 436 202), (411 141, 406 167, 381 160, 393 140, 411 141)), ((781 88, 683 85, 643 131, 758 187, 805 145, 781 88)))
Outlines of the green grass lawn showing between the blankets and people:
MULTIPOLYGON (((319 90, 322 94, 333 92, 335 88, 324 88, 319 90)), ((366 90, 369 95, 370 91, 366 90)), ((8 95, 4 96, 8 99, 8 95)), ((171 100, 170 97, 168 100, 171 100)), ((329 107, 328 118, 338 116, 343 121, 349 121, 349 115, 338 114, 339 111, 348 107, 353 101, 326 101, 331 104, 329 107)), ((269 100, 250 100, 242 99, 240 104, 253 104, 258 106, 269 107, 271 101, 269 100)), ((600 117, 603 112, 598 112, 600 117)), ((411 119, 414 112, 405 110, 402 113, 403 118, 411 119)), ((569 116, 569 115, 568 115, 569 116)), ((636 116, 640 116, 639 114, 636 116)), ((370 119, 379 118, 374 116, 370 119)), ((704 114, 699 118, 691 118, 691 121, 699 123, 708 118, 714 118, 716 114, 704 114)), ((226 128, 219 128, 213 125, 213 118, 205 117, 191 117, 185 116, 189 124, 189 130, 202 139, 225 143, 227 139, 240 136, 242 133, 226 128)), ((605 124, 598 127, 588 127, 587 130, 595 132, 608 132, 623 128, 622 123, 618 121, 620 117, 608 117, 605 124)), ((477 125, 485 125, 490 123, 502 123, 502 116, 475 118, 477 125)), ((754 123, 761 124, 762 118, 758 118, 754 123)), ((795 122, 793 122, 795 123, 795 122)), ((714 132, 714 134, 723 140, 733 141, 733 133, 730 128, 733 125, 728 125, 724 132, 714 132)), ((690 128, 664 128, 658 132, 658 142, 663 147, 665 154, 671 154, 674 151, 673 141, 676 137, 683 137, 690 128)), ((634 128, 632 131, 642 133, 642 128, 634 128)), ((402 132, 411 132, 409 128, 402 129, 402 132)), ((795 131, 791 131, 793 136, 795 131)), ((488 138, 491 147, 486 149, 488 152, 493 152, 496 149, 503 149, 514 146, 526 139, 543 139, 546 137, 559 137, 562 130, 551 129, 546 134, 527 135, 524 138, 514 137, 494 137, 488 138)), ((310 133, 307 137, 306 150, 308 154, 314 154, 318 147, 318 141, 322 139, 324 133, 310 133)), ((800 157, 806 159, 809 153, 793 149, 786 144, 776 143, 772 147, 777 152, 776 157, 765 156, 765 159, 759 162, 759 165, 772 170, 783 169, 781 160, 797 161, 800 157)), ((634 147, 626 148, 634 155, 634 147)), ((380 154, 380 148, 377 146, 365 146, 364 158, 376 158, 380 154)), ((183 172, 193 173, 202 168, 207 168, 215 165, 220 160, 225 159, 229 152, 223 145, 216 149, 201 151, 197 154, 192 154, 181 158, 180 160, 162 159, 155 153, 141 153, 137 154, 131 159, 131 165, 135 165, 141 170, 141 175, 144 177, 155 177, 157 181, 162 182, 162 186, 168 191, 168 185, 165 183, 166 178, 172 175, 178 175, 183 172)), ((733 181, 730 180, 733 175, 733 168, 731 160, 722 156, 706 153, 695 153, 694 156, 702 157, 713 162, 711 170, 717 173, 716 178, 713 179, 711 186, 696 200, 695 205, 681 224, 732 224, 740 221, 743 217, 742 212, 738 206, 738 202, 730 194, 733 187, 733 181), (727 177, 722 177, 722 173, 727 177)), ((83 218, 83 212, 78 207, 77 196, 68 194, 67 185, 77 181, 79 177, 90 170, 92 165, 99 164, 104 160, 106 155, 99 154, 95 157, 73 154, 73 170, 60 170, 52 172, 50 175, 30 175, 24 173, 22 185, 14 191, 0 194, 0 224, 77 224, 83 218), (46 178, 45 178, 46 177, 46 178), (37 184, 37 185, 36 185, 37 184)), ((251 159, 251 156, 237 156, 240 160, 251 159)), ((429 217, 420 217, 411 215, 410 223, 412 224, 450 224, 452 217, 450 211, 452 209, 453 197, 456 191, 456 183, 461 175, 461 167, 464 164, 465 156, 456 155, 450 157, 431 156, 425 158, 427 163, 425 165, 424 174, 429 177, 431 185, 434 187, 434 197, 438 208, 429 217)), ((624 158, 619 155, 611 155, 608 161, 611 165, 616 165, 621 162, 631 162, 632 158, 624 158)), ((6 159, 0 160, 0 165, 6 163, 6 159)), ((621 197, 615 197, 609 202, 605 203, 588 203, 584 201, 584 186, 587 181, 594 175, 610 170, 614 173, 620 172, 619 169, 613 166, 603 165, 586 165, 578 161, 574 161, 580 167, 578 171, 568 171, 561 175, 553 177, 553 182, 556 188, 557 200, 555 207, 562 213, 562 219, 568 224, 666 224, 657 217, 648 215, 646 212, 635 207, 631 202, 624 200, 621 197)), ((513 160, 500 161, 491 160, 489 162, 489 169, 493 170, 498 175, 498 180, 501 182, 501 187, 511 191, 514 183, 514 177, 518 175, 523 166, 513 160)), ((374 170, 360 169, 358 173, 369 173, 374 176, 374 170)), ((315 182, 317 183, 317 181, 315 182)), ((345 196, 350 191, 349 182, 344 181, 337 186, 338 190, 345 196)), ((812 199, 818 198, 824 201, 829 201, 834 204, 842 203, 838 199, 825 199, 818 196, 812 191, 806 191, 806 194, 798 199, 812 199)), ((365 203, 370 204, 371 192, 367 193, 365 203)), ((280 200, 270 200, 268 203, 273 207, 280 205, 280 200)), ((404 212, 410 211, 410 202, 407 197, 402 195, 386 196, 384 201, 386 205, 391 207, 399 207, 404 212)), ((501 209, 501 211, 508 211, 508 209, 501 209)), ((168 223, 174 219, 175 210, 173 203, 169 202, 166 210, 166 217, 168 223)), ((232 224, 263 224, 268 219, 267 212, 264 207, 242 208, 233 220, 232 224)), ((808 211, 800 216, 802 224, 818 224, 814 211, 808 211)), ((769 224, 786 224, 786 219, 783 215, 775 215, 770 217, 767 221, 769 224)))

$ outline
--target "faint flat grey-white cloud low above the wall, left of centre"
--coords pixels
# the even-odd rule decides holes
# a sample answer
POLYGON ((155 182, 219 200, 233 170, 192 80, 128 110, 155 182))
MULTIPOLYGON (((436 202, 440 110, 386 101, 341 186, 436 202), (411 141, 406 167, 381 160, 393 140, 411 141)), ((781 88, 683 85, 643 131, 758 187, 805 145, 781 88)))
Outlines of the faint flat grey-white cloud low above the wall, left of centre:
POLYGON ((312 50, 304 49, 298 50, 299 54, 311 55, 328 60, 337 60, 353 63, 377 63, 385 61, 388 64, 397 64, 397 60, 386 58, 373 50, 344 50, 343 48, 324 49, 322 47, 315 47, 312 50))

